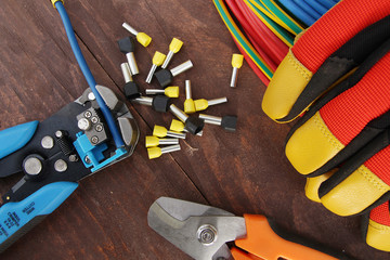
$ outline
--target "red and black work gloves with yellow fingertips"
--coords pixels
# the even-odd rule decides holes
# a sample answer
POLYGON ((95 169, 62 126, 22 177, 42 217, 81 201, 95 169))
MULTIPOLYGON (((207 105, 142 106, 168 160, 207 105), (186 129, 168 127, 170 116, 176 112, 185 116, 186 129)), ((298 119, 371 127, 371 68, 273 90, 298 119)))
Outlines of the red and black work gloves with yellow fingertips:
POLYGON ((301 35, 262 108, 304 115, 286 155, 307 195, 340 216, 364 214, 366 243, 390 251, 390 1, 343 0, 301 35))

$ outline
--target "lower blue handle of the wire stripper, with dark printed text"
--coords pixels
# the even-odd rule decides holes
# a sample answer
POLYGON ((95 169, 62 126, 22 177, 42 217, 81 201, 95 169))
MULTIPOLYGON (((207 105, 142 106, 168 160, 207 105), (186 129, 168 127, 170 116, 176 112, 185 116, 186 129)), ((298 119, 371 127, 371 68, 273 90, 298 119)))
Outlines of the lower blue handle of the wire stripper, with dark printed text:
POLYGON ((22 202, 0 208, 0 253, 54 211, 78 186, 76 182, 50 183, 22 202))

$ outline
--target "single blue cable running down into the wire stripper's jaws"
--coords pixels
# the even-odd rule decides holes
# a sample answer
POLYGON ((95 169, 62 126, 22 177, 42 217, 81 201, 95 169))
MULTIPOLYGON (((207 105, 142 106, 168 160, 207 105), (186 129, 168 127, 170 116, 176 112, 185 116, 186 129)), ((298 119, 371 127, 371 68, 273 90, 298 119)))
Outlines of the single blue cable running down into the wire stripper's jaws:
POLYGON ((110 133, 113 135, 113 139, 114 139, 114 142, 115 142, 115 145, 118 148, 122 147, 122 146, 125 146, 123 140, 122 140, 122 138, 121 138, 121 135, 120 135, 120 133, 118 131, 117 126, 115 125, 115 121, 114 121, 113 115, 110 114, 109 108, 107 107, 104 100, 102 99, 99 91, 96 90, 96 81, 93 78, 92 73, 88 67, 88 64, 87 64, 86 58, 83 57, 83 55, 81 53, 79 44, 77 43, 75 31, 74 31, 74 29, 72 27, 69 16, 66 13, 64 4, 62 3, 62 1, 56 1, 55 2, 55 8, 58 11, 60 16, 61 16, 61 18, 63 21, 65 31, 66 31, 66 35, 67 35, 67 37, 69 39, 72 50, 75 53, 76 60, 77 60, 77 62, 78 62, 78 64, 79 64, 79 66, 81 68, 81 72, 82 72, 83 76, 86 77, 87 82, 88 82, 89 87, 91 88, 94 96, 96 98, 98 104, 99 104, 99 106, 100 106, 100 108, 101 108, 101 110, 103 113, 103 116, 104 116, 105 120, 107 121, 109 131, 110 131, 110 133))

